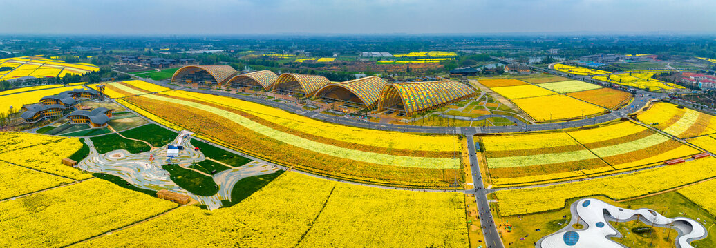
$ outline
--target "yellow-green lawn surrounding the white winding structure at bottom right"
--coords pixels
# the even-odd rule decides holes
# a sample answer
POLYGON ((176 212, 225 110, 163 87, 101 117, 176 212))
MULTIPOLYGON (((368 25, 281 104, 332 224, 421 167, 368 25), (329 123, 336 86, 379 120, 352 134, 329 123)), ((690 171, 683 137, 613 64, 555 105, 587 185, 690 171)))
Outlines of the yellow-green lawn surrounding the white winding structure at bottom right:
MULTIPOLYGON (((671 218, 687 217, 694 220, 701 219, 700 222, 707 223, 705 225, 706 228, 710 227, 715 222, 715 217, 713 217, 704 209, 689 201, 689 199, 686 199, 686 197, 683 197, 677 192, 667 192, 652 197, 645 197, 642 199, 635 199, 619 203, 614 202, 606 197, 592 198, 600 199, 606 203, 613 204, 614 206, 624 207, 627 209, 653 209, 654 211, 659 212, 659 214, 663 214, 664 216, 671 218), (684 213, 684 215, 680 213, 684 213)), ((569 219, 571 219, 571 212, 569 211, 569 206, 576 200, 578 199, 569 200, 565 208, 557 211, 541 214, 522 215, 518 217, 499 217, 498 214, 494 212, 494 204, 490 204, 490 206, 493 206, 492 209, 493 215, 495 217, 495 225, 498 226, 498 232, 500 232, 500 236, 503 238, 503 243, 505 244, 505 247, 532 248, 535 247, 533 242, 537 242, 537 240, 541 239, 542 237, 556 232, 557 230, 565 227, 566 223, 569 223, 569 219), (512 224, 512 232, 507 232, 504 227, 505 222, 512 224), (503 227, 499 227, 500 224, 503 224, 503 227), (541 231, 537 232, 536 229, 540 229, 541 231), (524 237, 525 239, 520 240, 520 238, 522 237, 524 237), (512 245, 508 245, 510 243, 512 243, 512 245)), ((610 224, 614 223, 611 222, 610 224)), ((627 234, 627 230, 623 228, 627 227, 630 229, 629 232, 631 232, 632 227, 637 227, 639 225, 643 224, 641 222, 639 222, 639 224, 634 222, 620 222, 620 224, 616 224, 614 225, 614 227, 619 228, 619 232, 625 235, 623 243, 628 247, 648 247, 649 242, 652 242, 652 236, 641 236, 633 233, 627 234), (644 243, 647 245, 635 245, 644 243)), ((667 237, 666 229, 656 228, 655 230, 657 232, 652 234, 654 235, 653 237, 655 237, 653 239, 653 247, 674 246, 675 232, 671 232, 669 240, 664 240, 664 238, 667 237)), ((692 242, 692 245, 694 245, 695 247, 715 247, 716 235, 709 234, 706 239, 692 242)))

